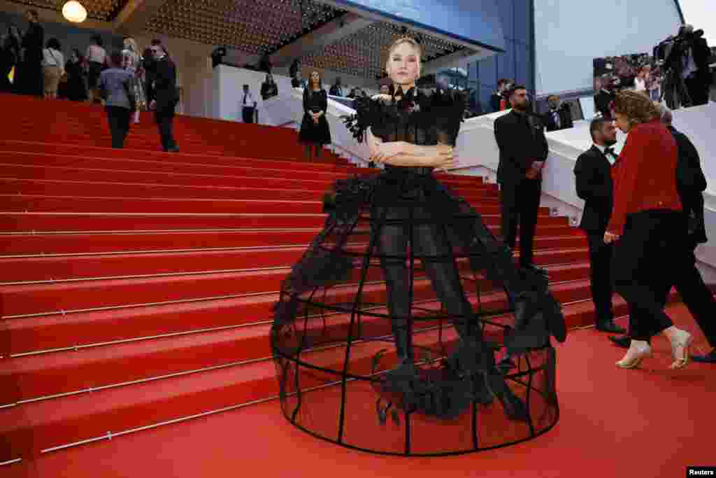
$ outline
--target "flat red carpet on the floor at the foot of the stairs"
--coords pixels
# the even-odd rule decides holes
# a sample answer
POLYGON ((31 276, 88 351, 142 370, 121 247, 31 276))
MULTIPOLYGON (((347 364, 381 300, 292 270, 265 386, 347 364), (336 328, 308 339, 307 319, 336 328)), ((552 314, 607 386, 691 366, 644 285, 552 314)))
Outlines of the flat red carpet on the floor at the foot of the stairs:
MULTIPOLYGON (((674 321, 695 324, 682 306, 674 321)), ((623 323, 623 322, 622 322, 623 323)), ((697 343, 704 340, 699 335, 697 343)), ((34 477, 654 477, 713 464, 716 393, 710 365, 672 372, 669 345, 655 341, 644 369, 622 371, 604 334, 574 330, 558 347, 559 424, 536 440, 462 457, 403 459, 342 449, 294 429, 276 401, 226 411, 13 464, 34 477)))

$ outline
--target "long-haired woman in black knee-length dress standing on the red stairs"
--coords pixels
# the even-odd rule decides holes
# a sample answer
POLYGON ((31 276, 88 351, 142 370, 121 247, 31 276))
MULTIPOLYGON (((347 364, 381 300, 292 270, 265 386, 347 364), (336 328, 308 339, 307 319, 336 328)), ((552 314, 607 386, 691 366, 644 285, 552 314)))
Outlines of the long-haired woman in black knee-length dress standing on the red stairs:
POLYGON ((331 143, 331 130, 326 120, 328 95, 321 84, 319 72, 311 72, 309 85, 304 89, 304 120, 301 122, 299 140, 306 145, 306 159, 311 160, 311 145, 316 149, 316 159, 321 156, 324 144, 331 143))

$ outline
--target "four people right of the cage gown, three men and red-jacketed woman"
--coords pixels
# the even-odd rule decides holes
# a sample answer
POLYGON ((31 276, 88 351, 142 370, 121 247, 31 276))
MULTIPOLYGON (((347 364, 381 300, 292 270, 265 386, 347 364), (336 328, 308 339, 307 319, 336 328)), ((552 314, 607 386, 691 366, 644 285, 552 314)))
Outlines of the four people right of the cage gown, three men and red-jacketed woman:
MULTIPOLYGON (((519 85, 503 92, 511 113, 495 120, 497 177, 505 244, 515 246, 520 223, 522 267, 540 270, 532 263, 532 249, 547 157, 546 123, 528 113, 526 95, 519 85)), ((651 338, 660 333, 672 345, 671 368, 684 367, 690 358, 716 363, 716 300, 694 254, 707 240, 706 179, 698 152, 673 127, 670 110, 644 91, 615 92, 609 106, 608 115, 591 121, 593 145, 574 168, 576 191, 585 201, 579 226, 589 245, 596 330, 623 334, 609 337, 628 349, 616 363, 621 368, 647 358, 651 338), (629 133, 619 155, 613 148, 616 128, 629 133), (672 286, 702 328, 710 352, 691 357, 692 334, 675 327, 664 312, 672 286), (628 333, 614 322, 614 292, 629 306, 628 333)))

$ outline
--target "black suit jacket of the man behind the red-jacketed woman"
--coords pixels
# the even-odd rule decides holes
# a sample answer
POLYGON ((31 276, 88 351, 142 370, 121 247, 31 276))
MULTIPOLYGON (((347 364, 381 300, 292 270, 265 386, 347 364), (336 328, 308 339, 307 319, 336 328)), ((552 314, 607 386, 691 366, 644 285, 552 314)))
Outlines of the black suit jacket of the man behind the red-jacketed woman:
POLYGON ((684 214, 689 221, 689 236, 693 245, 707 242, 706 225, 704 221, 704 195, 706 190, 706 177, 701 169, 701 159, 694 143, 680 133, 676 128, 669 126, 679 150, 679 159, 676 166, 676 188, 679 193, 684 214))

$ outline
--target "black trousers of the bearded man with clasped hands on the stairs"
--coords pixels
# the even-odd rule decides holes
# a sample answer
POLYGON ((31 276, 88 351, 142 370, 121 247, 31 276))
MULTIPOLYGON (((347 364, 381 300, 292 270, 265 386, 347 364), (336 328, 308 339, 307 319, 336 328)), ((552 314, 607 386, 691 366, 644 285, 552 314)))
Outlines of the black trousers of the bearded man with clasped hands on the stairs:
POLYGON ((520 264, 533 263, 533 248, 537 214, 542 194, 538 179, 523 178, 522 181, 505 181, 500 184, 502 209, 502 237, 511 249, 517 242, 517 226, 520 226, 520 264))

